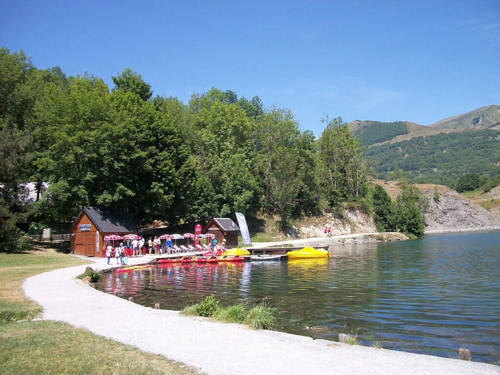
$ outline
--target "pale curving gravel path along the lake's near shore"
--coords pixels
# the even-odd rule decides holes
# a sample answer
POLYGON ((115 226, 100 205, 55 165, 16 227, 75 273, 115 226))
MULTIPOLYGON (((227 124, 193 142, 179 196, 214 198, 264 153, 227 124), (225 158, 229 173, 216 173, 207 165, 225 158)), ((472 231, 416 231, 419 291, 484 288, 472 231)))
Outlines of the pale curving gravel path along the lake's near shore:
MULTIPOLYGON (((95 268, 106 267, 95 259, 95 268)), ((131 258, 139 263, 145 258, 131 258)), ((100 292, 74 277, 85 266, 26 279, 25 294, 43 306, 42 319, 64 321, 208 374, 499 374, 500 367, 183 317, 100 292), (121 318, 117 319, 116 316, 121 318), (208 354, 210 353, 210 354, 208 354)), ((472 353, 473 355, 473 353, 472 353)))

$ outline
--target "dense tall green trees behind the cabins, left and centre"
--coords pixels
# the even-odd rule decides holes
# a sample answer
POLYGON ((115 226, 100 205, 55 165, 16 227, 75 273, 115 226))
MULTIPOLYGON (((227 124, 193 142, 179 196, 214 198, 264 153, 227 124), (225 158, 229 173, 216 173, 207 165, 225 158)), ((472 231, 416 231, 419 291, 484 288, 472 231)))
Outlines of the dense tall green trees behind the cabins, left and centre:
POLYGON ((0 72, 4 237, 18 221, 67 221, 83 205, 168 224, 261 212, 284 227, 317 212, 314 194, 333 207, 367 193, 362 144, 341 118, 326 122, 316 144, 290 110, 258 96, 212 88, 183 103, 153 96, 128 68, 108 87, 91 74, 37 69, 5 48, 0 72), (29 207, 28 181, 49 183, 29 207))

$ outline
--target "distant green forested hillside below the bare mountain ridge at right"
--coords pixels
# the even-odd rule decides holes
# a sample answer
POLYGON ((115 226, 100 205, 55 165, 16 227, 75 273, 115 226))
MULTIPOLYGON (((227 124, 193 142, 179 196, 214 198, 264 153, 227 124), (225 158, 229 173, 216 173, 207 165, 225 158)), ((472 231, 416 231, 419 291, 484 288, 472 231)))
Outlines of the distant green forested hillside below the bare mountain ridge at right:
POLYGON ((380 179, 402 169, 417 183, 453 186, 465 173, 500 175, 500 131, 468 130, 367 147, 380 179))

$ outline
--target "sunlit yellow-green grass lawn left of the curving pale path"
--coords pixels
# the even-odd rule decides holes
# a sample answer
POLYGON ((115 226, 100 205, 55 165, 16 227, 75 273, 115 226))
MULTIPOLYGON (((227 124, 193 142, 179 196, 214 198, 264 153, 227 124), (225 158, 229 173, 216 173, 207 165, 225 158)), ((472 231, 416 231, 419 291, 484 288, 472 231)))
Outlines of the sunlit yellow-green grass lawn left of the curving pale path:
POLYGON ((56 321, 29 320, 41 307, 24 296, 23 280, 86 263, 52 250, 0 253, 0 374, 199 374, 182 363, 85 329, 56 321))

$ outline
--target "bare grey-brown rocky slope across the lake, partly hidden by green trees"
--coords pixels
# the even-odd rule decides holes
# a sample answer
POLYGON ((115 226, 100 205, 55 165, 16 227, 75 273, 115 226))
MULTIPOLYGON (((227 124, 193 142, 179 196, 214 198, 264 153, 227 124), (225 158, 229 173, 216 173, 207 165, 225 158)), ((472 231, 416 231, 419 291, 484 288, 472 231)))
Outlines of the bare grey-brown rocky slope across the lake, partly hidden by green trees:
MULTIPOLYGON (((399 181, 376 181, 395 198, 401 190, 399 181)), ((473 203, 458 192, 442 185, 417 184, 427 197, 429 208, 424 213, 425 231, 474 230, 500 227, 500 217, 495 212, 473 203), (439 190, 436 201, 435 187, 439 190)))

